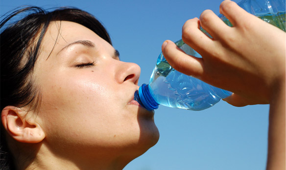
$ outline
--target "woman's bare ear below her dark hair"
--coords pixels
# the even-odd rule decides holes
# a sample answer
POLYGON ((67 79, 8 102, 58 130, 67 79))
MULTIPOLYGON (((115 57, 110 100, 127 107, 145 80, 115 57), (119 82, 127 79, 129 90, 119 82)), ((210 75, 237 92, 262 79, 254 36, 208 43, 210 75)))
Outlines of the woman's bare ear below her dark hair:
POLYGON ((45 133, 36 122, 33 112, 6 106, 1 112, 1 121, 6 131, 19 142, 39 143, 45 138, 45 133))

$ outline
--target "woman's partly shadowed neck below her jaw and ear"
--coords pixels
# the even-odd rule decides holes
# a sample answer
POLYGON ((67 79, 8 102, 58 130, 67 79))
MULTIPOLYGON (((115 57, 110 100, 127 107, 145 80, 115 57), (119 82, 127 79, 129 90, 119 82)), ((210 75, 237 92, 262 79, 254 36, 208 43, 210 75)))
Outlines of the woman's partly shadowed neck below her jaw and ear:
MULTIPOLYGON (((105 154, 97 151, 96 154, 67 154, 53 153, 41 146, 35 159, 24 169, 20 170, 122 170, 134 157, 105 154)), ((110 152, 108 152, 110 153, 110 152)))

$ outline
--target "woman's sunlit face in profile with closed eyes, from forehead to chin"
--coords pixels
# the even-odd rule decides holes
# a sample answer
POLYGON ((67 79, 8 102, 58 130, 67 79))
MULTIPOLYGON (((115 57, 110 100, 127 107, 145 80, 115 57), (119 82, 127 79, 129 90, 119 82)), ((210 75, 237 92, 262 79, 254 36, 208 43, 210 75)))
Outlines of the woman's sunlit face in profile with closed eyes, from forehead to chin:
POLYGON ((33 76, 42 93, 37 119, 52 152, 138 156, 157 143, 154 112, 133 100, 140 67, 119 61, 90 29, 51 22, 33 76))

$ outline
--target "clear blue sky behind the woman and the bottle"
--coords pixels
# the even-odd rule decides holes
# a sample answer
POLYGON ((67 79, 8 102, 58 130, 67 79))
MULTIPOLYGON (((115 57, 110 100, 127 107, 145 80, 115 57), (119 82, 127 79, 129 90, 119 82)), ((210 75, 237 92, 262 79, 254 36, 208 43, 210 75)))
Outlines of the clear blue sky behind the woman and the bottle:
MULTIPOLYGON (((141 85, 148 83, 162 43, 181 39, 184 22, 203 10, 218 14, 221 1, 0 0, 0 14, 20 5, 74 6, 92 13, 107 28, 120 59, 141 66, 141 85)), ((224 101, 203 111, 160 106, 159 142, 124 170, 264 170, 268 110, 268 105, 235 107, 224 101)))

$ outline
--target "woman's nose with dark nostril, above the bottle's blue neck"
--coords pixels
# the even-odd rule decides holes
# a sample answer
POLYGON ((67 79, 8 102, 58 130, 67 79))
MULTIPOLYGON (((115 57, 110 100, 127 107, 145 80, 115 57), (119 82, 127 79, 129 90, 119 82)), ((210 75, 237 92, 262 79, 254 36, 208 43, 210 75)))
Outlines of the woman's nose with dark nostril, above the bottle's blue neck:
POLYGON ((116 73, 116 80, 118 83, 124 82, 132 82, 135 85, 138 85, 138 80, 140 77, 141 68, 138 64, 135 63, 126 63, 121 62, 119 64, 117 73, 116 73))

